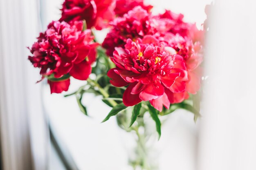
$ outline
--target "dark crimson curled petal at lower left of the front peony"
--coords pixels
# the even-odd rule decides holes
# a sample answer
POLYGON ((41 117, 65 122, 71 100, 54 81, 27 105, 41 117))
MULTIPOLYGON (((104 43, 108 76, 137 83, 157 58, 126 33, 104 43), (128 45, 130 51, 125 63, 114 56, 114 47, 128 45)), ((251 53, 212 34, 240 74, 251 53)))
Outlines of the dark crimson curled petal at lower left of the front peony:
POLYGON ((139 98, 139 94, 136 94, 136 95, 131 94, 132 88, 134 88, 135 85, 136 83, 130 84, 124 91, 123 102, 125 106, 134 106, 135 104, 138 104, 139 102, 142 101, 139 98))

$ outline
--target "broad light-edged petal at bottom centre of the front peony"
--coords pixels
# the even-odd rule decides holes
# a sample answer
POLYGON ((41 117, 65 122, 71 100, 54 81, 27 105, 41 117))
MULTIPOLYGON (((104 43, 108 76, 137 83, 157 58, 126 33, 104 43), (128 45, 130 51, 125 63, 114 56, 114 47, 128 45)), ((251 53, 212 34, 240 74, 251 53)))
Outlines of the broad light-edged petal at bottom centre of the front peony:
POLYGON ((152 82, 147 84, 146 87, 139 94, 139 98, 143 101, 157 99, 164 95, 164 87, 159 82, 152 82))

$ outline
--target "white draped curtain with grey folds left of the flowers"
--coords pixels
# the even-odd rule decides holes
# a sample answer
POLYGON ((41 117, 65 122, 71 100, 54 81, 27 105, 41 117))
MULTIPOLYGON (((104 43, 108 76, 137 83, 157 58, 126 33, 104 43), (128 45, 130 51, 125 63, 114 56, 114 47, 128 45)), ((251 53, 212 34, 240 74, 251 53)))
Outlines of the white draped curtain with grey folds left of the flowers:
POLYGON ((0 135, 3 170, 46 170, 48 135, 39 73, 26 46, 40 31, 38 0, 0 0, 0 135))

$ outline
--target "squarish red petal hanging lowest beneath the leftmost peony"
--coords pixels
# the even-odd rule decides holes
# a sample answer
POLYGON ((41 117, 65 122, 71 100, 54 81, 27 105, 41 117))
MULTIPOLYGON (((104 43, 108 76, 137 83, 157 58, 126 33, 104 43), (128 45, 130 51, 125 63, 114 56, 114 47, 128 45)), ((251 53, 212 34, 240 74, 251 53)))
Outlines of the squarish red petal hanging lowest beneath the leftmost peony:
POLYGON ((70 86, 70 79, 66 79, 60 82, 53 82, 48 79, 48 84, 50 85, 51 94, 52 93, 61 93, 67 91, 70 86))

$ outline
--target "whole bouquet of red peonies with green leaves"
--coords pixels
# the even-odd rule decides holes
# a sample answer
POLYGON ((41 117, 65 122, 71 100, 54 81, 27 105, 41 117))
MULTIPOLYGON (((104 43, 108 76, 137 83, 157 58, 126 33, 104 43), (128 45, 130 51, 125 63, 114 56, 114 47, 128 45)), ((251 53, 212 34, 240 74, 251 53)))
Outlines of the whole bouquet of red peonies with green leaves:
MULTIPOLYGON (((51 93, 67 91, 70 77, 84 80, 76 95, 101 95, 111 116, 130 108, 131 127, 149 113, 161 135, 159 116, 182 108, 199 114, 204 31, 166 10, 153 15, 143 0, 65 0, 62 16, 40 33, 29 50, 51 93), (95 30, 108 28, 103 43, 95 30), (94 76, 92 76, 94 75, 94 76)), ((69 96, 69 95, 66 95, 69 96)))

